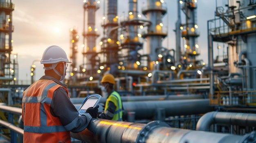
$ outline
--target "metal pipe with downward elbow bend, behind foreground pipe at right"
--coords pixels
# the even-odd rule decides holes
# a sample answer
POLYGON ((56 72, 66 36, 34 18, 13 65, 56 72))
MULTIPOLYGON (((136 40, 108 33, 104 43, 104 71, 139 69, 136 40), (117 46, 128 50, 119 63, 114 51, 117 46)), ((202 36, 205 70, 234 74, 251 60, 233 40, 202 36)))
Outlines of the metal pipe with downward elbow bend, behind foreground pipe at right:
POLYGON ((196 130, 210 131, 213 124, 256 126, 256 114, 234 112, 208 112, 204 114, 196 125, 196 130))

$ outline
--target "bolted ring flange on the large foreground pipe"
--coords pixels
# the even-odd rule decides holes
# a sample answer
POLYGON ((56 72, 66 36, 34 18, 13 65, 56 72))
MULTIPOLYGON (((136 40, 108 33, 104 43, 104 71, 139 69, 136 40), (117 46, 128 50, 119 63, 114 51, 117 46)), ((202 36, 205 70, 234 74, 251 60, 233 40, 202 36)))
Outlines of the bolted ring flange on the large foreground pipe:
POLYGON ((138 133, 137 139, 135 141, 135 143, 145 143, 145 139, 148 136, 148 133, 156 128, 156 127, 170 127, 167 123, 163 122, 163 121, 151 121, 149 123, 147 123, 138 133))

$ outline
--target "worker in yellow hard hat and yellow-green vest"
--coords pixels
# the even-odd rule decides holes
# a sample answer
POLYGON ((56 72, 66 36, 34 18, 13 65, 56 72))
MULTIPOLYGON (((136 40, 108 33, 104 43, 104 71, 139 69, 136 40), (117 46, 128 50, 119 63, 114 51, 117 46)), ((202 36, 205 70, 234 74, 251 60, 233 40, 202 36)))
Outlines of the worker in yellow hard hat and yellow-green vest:
POLYGON ((101 79, 101 91, 108 92, 108 97, 99 118, 123 121, 123 104, 120 95, 113 89, 114 84, 115 78, 111 74, 105 74, 101 79))

